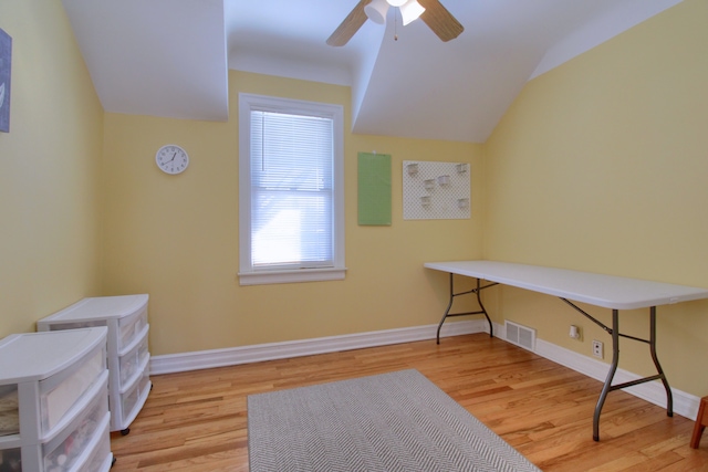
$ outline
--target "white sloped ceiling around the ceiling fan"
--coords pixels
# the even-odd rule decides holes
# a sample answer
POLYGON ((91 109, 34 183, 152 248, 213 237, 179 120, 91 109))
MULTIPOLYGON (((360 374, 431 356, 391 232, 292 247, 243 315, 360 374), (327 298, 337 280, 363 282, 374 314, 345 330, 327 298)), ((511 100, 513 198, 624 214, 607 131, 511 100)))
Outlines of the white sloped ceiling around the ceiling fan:
POLYGON ((391 9, 343 48, 358 0, 62 1, 106 112, 226 120, 236 69, 351 85, 354 133, 483 143, 530 78, 681 0, 441 0, 450 42, 391 9))

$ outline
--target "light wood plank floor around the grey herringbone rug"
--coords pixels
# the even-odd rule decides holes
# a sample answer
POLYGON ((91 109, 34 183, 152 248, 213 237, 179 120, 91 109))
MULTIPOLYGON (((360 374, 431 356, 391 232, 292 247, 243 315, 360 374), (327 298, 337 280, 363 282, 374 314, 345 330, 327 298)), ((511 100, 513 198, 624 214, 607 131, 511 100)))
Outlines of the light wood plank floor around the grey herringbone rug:
POLYGON ((691 420, 614 391, 595 442, 600 381, 475 334, 439 346, 425 340, 153 376, 129 434, 112 434, 112 472, 248 471, 248 395, 405 368, 418 369, 546 472, 708 471, 708 433, 690 449, 691 420))

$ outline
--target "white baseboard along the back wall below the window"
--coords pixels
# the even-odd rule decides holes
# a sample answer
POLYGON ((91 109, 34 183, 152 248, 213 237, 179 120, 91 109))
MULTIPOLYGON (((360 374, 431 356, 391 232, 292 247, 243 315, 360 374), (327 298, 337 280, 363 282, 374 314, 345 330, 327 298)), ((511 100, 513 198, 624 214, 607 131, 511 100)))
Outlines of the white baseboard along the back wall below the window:
MULTIPOLYGON (((150 374, 181 373, 212 367, 260 363, 262 360, 435 339, 437 325, 427 325, 344 336, 291 340, 287 343, 259 344, 226 349, 153 356, 150 357, 150 374)), ((485 332, 489 333, 487 321, 485 319, 448 322, 442 325, 440 337, 485 332)))

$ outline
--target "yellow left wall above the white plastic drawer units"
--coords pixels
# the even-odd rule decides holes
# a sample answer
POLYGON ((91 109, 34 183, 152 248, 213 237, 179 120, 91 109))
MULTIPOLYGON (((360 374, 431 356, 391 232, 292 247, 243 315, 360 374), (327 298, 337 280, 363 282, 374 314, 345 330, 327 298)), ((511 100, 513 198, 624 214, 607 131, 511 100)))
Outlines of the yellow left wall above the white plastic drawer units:
POLYGON ((0 337, 100 284, 103 111, 59 1, 3 0, 10 133, 0 133, 0 337))

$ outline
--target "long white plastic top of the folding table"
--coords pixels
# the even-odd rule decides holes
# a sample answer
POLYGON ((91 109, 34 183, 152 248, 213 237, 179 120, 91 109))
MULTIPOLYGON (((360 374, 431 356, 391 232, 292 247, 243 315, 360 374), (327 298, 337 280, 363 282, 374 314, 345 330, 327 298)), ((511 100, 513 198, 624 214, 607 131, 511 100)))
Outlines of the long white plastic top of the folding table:
POLYGON ((612 310, 708 298, 708 289, 496 261, 426 262, 425 268, 482 279, 612 310))

